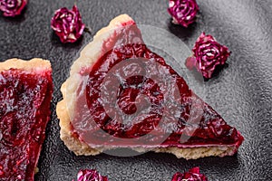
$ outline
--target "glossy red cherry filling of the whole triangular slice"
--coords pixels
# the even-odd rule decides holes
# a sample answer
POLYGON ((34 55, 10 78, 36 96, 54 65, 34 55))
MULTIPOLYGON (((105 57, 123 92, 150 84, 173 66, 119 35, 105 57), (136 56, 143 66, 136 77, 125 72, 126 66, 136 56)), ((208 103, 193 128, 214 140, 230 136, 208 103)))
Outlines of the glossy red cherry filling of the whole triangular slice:
MULTIPOLYGON (((104 47, 113 48, 104 48, 91 71, 82 72, 88 80, 82 98, 88 110, 84 112, 81 106, 76 106, 76 112, 86 118, 72 120, 77 137, 92 147, 131 146, 135 138, 143 136, 147 137, 141 146, 148 147, 154 139, 165 135, 156 148, 241 144, 243 137, 237 129, 228 126, 215 110, 189 90, 183 78, 162 57, 147 48, 139 29, 125 26, 118 31, 121 32, 104 43, 104 47), (170 78, 175 83, 165 89, 160 81, 169 82, 170 78), (189 117, 196 99, 202 104, 202 115, 194 123, 189 122, 189 117), (195 131, 186 131, 186 127, 195 131), (112 141, 104 133, 129 141, 112 141)), ((83 100, 76 104, 81 105, 83 100)))

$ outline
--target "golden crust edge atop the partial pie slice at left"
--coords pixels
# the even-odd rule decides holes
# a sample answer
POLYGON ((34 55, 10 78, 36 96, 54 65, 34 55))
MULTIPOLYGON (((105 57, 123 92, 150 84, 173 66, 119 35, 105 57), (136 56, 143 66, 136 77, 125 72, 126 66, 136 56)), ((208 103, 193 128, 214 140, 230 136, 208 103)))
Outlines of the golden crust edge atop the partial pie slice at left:
POLYGON ((6 60, 5 62, 0 62, 0 71, 6 71, 12 68, 24 71, 51 70, 51 63, 39 58, 34 58, 29 61, 14 58, 6 60))

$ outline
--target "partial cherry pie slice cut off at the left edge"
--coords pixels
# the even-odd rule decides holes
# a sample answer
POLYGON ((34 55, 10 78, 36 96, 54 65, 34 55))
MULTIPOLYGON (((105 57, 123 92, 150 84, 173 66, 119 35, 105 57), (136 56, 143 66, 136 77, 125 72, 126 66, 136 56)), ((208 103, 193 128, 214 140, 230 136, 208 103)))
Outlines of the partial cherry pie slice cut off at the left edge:
POLYGON ((0 180, 34 180, 50 119, 51 64, 0 62, 0 180))

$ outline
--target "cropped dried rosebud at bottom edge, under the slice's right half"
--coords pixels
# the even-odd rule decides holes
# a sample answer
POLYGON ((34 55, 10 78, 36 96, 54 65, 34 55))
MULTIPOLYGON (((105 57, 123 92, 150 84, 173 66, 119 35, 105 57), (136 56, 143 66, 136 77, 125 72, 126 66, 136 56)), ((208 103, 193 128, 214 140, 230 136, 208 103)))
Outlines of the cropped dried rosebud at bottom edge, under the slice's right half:
POLYGON ((199 167, 194 167, 189 170, 189 172, 185 172, 181 174, 180 172, 176 173, 172 177, 172 181, 208 181, 208 178, 199 172, 199 167))

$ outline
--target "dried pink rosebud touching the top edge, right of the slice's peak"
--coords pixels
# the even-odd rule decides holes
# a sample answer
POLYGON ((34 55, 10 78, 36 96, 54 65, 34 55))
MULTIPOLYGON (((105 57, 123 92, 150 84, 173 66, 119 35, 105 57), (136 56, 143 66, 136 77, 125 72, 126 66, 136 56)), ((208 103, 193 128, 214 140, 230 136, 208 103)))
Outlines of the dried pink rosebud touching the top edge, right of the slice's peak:
POLYGON ((170 0, 168 12, 173 18, 173 24, 188 27, 196 20, 199 5, 196 0, 170 0))

